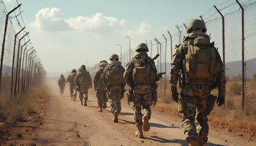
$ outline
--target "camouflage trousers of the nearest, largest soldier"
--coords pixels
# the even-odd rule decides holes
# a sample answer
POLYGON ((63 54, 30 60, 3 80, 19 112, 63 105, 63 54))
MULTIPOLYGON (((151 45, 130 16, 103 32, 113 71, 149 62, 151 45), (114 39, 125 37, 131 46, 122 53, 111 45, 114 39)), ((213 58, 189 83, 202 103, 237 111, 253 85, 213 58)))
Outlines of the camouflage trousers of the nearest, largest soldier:
POLYGON ((187 141, 198 140, 201 143, 206 143, 209 131, 206 108, 210 89, 206 85, 185 85, 181 96, 187 100, 182 120, 187 141), (196 116, 196 124, 194 116, 196 116))

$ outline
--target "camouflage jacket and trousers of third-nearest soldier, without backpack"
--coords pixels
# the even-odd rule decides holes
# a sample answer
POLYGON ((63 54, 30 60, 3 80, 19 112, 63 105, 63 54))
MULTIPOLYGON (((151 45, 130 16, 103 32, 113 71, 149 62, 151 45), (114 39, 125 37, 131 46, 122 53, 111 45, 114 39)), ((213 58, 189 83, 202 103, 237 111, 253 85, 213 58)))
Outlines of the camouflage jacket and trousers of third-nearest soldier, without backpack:
POLYGON ((103 85, 107 86, 107 88, 108 88, 107 94, 108 94, 108 99, 110 99, 109 103, 111 106, 112 113, 114 111, 118 111, 118 113, 120 113, 121 99, 124 96, 124 87, 126 86, 126 82, 124 81, 124 78, 123 78, 122 79, 123 81, 121 81, 122 83, 116 84, 116 85, 110 85, 109 80, 107 79, 107 72, 110 72, 111 68, 113 68, 113 66, 118 66, 119 69, 121 69, 121 74, 122 74, 122 78, 123 78, 124 68, 123 68, 123 66, 121 66, 121 62, 113 60, 108 64, 108 66, 105 67, 105 69, 101 75, 101 80, 102 80, 103 85))

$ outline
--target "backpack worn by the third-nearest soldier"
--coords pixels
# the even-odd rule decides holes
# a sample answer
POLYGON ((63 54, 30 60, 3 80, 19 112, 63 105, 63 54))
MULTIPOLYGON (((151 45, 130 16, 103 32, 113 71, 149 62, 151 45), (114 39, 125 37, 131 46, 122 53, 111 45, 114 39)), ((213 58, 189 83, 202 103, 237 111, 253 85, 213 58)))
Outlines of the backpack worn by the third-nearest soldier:
POLYGON ((123 83, 123 72, 121 66, 110 66, 107 72, 108 85, 118 85, 123 83))

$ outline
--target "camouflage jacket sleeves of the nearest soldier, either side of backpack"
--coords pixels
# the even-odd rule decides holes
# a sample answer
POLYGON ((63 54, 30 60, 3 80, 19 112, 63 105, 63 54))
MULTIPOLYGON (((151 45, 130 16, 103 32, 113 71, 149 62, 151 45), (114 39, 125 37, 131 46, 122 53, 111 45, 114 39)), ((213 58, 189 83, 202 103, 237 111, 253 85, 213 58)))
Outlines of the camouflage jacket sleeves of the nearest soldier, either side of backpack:
MULTIPOLYGON (((193 40, 193 38, 188 38, 191 40, 193 40)), ((176 47, 176 52, 174 55, 172 55, 172 59, 171 59, 171 71, 170 71, 170 77, 169 77, 169 83, 171 87, 176 87, 177 85, 177 81, 179 79, 179 73, 182 71, 183 68, 183 60, 185 58, 186 52, 185 50, 187 50, 186 47, 188 47, 187 41, 183 40, 183 43, 179 44, 176 47)), ((221 61, 221 57, 219 56, 219 52, 216 49, 217 52, 217 57, 216 57, 216 61, 221 64, 219 66, 219 70, 218 70, 218 74, 216 76, 216 80, 217 80, 217 87, 219 90, 219 94, 225 94, 225 86, 226 86, 226 78, 225 78, 225 72, 223 69, 223 64, 221 61)))

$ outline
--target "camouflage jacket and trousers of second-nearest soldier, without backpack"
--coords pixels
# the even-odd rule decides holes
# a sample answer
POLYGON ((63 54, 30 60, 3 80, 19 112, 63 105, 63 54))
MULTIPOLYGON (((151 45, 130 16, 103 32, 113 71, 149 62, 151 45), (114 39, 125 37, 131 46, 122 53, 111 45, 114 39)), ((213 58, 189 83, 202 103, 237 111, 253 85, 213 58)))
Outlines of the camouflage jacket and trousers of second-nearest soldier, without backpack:
MULTIPOLYGON (((133 82, 133 68, 135 68, 135 61, 143 58, 144 60, 148 59, 148 54, 146 52, 139 52, 132 58, 128 64, 126 64, 126 70, 124 71, 124 79, 127 82, 127 85, 133 89, 134 101, 133 101, 133 111, 134 119, 136 121, 135 125, 143 125, 142 116, 151 117, 151 105, 152 105, 152 87, 151 84, 147 85, 144 83, 135 83, 133 82), (142 113, 141 113, 142 106, 142 113)), ((155 81, 157 80, 157 68, 155 63, 151 64, 151 69, 154 70, 155 81)))

